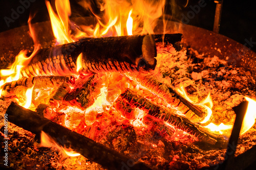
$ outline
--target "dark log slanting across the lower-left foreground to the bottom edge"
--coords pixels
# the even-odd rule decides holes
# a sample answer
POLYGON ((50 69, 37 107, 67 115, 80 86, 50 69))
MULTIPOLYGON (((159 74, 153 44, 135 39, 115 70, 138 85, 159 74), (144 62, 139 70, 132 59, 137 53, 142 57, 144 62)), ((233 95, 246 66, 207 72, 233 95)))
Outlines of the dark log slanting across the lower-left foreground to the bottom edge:
MULTIPOLYGON (((84 157, 101 164, 105 168, 127 168, 129 167, 127 163, 131 165, 131 161, 134 161, 133 158, 106 148, 104 145, 62 127, 45 117, 41 117, 36 112, 25 109, 14 102, 10 104, 6 113, 11 123, 36 135, 40 135, 41 131, 44 131, 46 134, 50 135, 57 144, 65 148, 70 148, 84 157)), ((151 169, 139 161, 135 162, 134 165, 129 168, 151 169)))

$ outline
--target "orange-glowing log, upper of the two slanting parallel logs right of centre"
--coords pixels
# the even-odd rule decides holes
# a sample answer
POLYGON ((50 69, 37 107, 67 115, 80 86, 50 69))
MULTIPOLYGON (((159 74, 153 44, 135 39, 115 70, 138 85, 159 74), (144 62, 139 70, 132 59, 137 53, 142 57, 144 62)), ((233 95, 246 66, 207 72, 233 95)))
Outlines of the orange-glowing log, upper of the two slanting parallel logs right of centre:
POLYGON ((198 107, 188 102, 185 98, 179 95, 172 87, 167 84, 161 83, 153 75, 145 73, 129 73, 126 74, 130 79, 136 81, 141 86, 145 87, 149 91, 157 94, 162 98, 166 105, 173 107, 181 114, 184 114, 192 122, 198 123, 205 116, 204 112, 198 107))

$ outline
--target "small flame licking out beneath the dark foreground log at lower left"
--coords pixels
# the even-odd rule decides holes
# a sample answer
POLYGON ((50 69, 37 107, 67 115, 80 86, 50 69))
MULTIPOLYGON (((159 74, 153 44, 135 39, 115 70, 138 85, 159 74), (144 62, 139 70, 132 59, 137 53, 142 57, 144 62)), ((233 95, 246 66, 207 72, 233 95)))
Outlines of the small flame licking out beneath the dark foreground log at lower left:
POLYGON ((48 148, 57 148, 58 150, 62 151, 63 153, 66 153, 68 156, 79 156, 80 154, 75 153, 74 151, 67 151, 67 149, 59 146, 53 138, 51 138, 49 135, 47 135, 44 131, 41 132, 41 143, 42 146, 48 147, 48 148))

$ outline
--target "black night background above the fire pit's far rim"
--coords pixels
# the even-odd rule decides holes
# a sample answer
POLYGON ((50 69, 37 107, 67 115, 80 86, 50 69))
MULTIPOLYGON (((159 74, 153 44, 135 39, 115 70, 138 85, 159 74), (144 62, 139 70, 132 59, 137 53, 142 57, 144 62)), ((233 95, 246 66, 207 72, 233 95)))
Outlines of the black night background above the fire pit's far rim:
MULTIPOLYGON (((29 1, 29 0, 21 0, 29 1)), ((32 0, 31 0, 32 1, 32 0)), ((33 0, 30 3, 29 8, 25 9, 24 13, 19 14, 19 17, 14 22, 10 22, 8 27, 4 17, 11 18, 12 9, 17 11, 19 7, 19 0, 1 0, 0 1, 0 32, 4 32, 9 29, 27 25, 27 21, 30 13, 34 13, 35 17, 32 22, 41 22, 50 20, 45 1, 33 0)), ((84 10, 79 4, 80 0, 72 1, 71 4, 71 17, 77 16, 92 16, 90 11, 84 10)), ((94 0, 87 0, 90 3, 94 3, 94 0)), ((129 0, 127 0, 129 1, 129 0)), ((130 0, 131 1, 131 0, 130 0)), ((201 27, 207 30, 212 30, 214 26, 214 16, 216 4, 213 0, 201 0, 206 4, 205 7, 200 8, 200 11, 195 14, 195 17, 189 19, 188 25, 201 27)), ((256 1, 239 1, 239 0, 223 0, 222 17, 220 23, 220 34, 232 38, 242 44, 246 43, 246 39, 251 41, 251 49, 256 52, 256 1)), ((172 15, 172 19, 181 21, 183 15, 187 15, 188 11, 191 11, 191 6, 198 5, 199 0, 189 0, 186 7, 186 0, 166 0, 165 12, 172 15), (182 15, 183 14, 183 15, 182 15)), ((94 8, 97 10, 97 7, 94 8)), ((0 42, 4 43, 4 42, 0 42)))

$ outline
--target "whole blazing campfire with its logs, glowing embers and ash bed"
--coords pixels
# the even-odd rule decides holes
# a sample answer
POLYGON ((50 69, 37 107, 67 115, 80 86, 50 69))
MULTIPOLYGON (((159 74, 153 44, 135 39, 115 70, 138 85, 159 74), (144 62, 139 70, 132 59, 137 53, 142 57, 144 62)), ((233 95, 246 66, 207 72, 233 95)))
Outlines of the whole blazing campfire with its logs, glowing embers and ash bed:
MULTIPOLYGON (((69 18, 68 0, 46 1, 50 22, 30 17, 33 50, 1 65, 1 167, 247 168, 255 161, 254 68, 220 48, 212 55, 190 46, 203 44, 188 36, 198 28, 166 20, 165 1, 122 3, 96 11, 82 2, 95 15, 87 23, 69 18)), ((217 36, 234 43, 209 35, 210 44, 217 36)))

